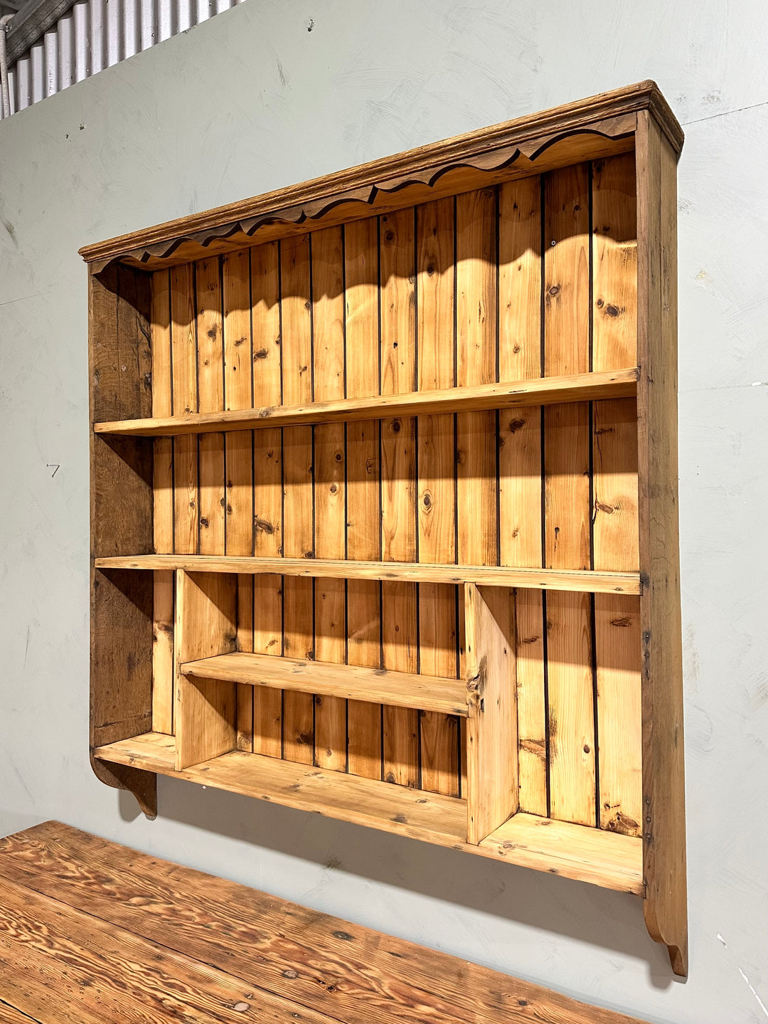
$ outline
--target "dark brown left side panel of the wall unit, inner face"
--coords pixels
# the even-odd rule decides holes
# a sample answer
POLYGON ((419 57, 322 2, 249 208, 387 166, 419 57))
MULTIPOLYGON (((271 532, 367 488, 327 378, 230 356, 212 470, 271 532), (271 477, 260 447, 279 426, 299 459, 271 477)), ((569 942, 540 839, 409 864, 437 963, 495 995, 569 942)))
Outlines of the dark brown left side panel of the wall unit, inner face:
MULTIPOLYGON (((146 416, 148 275, 126 267, 91 273, 89 310, 91 422, 146 416)), ((91 434, 91 559, 152 549, 152 441, 137 440, 91 434)), ((151 729, 152 590, 149 572, 102 572, 91 562, 91 749, 151 729)), ((101 781, 130 790, 145 813, 156 813, 152 773, 91 764, 101 781)))

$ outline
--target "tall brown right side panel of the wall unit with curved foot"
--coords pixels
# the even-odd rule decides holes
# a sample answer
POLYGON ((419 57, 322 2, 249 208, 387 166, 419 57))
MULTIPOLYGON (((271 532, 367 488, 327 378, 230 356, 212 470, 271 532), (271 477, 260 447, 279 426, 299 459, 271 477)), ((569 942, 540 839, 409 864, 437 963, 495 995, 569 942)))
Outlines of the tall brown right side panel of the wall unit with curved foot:
POLYGON ((677 503, 677 167, 638 114, 638 471, 645 923, 672 969, 688 963, 677 503))

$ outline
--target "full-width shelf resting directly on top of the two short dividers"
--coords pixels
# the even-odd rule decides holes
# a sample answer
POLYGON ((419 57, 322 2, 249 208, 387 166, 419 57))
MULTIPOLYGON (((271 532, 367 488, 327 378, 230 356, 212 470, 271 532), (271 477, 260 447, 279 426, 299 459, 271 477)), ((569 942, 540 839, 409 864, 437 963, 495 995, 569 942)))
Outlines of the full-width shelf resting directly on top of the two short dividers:
POLYGON ((428 562, 363 562, 329 558, 251 558, 219 555, 109 555, 97 569, 184 569, 186 572, 272 572, 288 577, 383 580, 403 583, 475 583, 591 594, 639 594, 639 572, 510 568, 505 565, 434 565, 428 562))

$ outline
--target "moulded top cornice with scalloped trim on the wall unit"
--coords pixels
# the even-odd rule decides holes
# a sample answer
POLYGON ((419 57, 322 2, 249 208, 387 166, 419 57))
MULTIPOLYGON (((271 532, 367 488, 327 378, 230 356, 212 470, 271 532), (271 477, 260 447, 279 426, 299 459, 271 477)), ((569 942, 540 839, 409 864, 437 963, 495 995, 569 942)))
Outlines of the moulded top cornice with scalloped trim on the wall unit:
POLYGON ((644 110, 679 154, 682 128, 657 84, 640 82, 84 246, 80 254, 94 271, 114 261, 157 269, 597 159, 631 148, 637 113, 644 110), (577 137, 582 144, 568 144, 577 137))

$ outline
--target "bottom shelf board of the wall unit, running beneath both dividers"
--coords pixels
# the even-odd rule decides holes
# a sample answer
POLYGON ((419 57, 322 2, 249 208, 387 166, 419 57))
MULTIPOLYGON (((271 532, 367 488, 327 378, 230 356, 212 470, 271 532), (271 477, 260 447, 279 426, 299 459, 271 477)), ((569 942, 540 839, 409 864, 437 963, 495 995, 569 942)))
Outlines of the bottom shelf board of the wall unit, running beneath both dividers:
POLYGON ((239 751, 176 771, 175 753, 173 736, 147 732, 99 746, 94 757, 620 892, 645 894, 642 841, 634 837, 517 813, 473 846, 466 842, 466 801, 456 797, 239 751))

